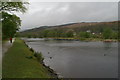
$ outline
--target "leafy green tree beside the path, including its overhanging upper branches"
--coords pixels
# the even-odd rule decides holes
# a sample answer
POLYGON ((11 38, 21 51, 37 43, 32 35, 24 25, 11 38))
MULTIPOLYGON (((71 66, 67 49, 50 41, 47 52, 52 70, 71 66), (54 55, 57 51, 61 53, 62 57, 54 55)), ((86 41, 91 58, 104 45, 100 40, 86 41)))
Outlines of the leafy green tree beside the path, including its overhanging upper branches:
POLYGON ((2 22, 2 34, 3 39, 14 37, 15 33, 19 30, 19 26, 21 25, 21 20, 15 14, 11 12, 22 12, 24 13, 27 2, 1 2, 0 1, 0 14, 2 14, 2 18, 0 18, 0 22, 2 22))

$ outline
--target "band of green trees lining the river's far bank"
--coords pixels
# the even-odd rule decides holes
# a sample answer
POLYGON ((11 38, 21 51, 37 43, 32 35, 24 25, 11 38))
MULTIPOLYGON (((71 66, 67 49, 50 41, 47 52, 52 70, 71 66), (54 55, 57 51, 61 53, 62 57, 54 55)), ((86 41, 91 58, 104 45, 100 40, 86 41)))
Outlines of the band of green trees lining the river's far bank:
POLYGON ((75 31, 72 29, 45 29, 39 33, 27 33, 21 35, 28 38, 100 38, 100 39, 118 39, 118 31, 112 30, 112 28, 103 28, 101 32, 93 32, 91 30, 75 31))

